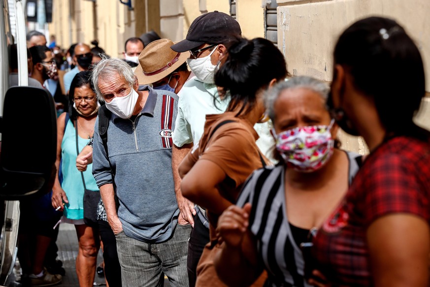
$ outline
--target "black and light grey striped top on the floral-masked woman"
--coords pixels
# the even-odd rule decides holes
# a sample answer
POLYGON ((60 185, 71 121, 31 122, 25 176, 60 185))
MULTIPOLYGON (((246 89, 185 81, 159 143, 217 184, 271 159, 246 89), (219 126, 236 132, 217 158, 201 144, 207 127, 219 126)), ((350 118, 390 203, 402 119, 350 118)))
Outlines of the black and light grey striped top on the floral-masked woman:
MULTIPOLYGON (((362 157, 353 152, 347 155, 351 184, 362 157)), ((257 239, 259 258, 268 273, 265 286, 311 287, 303 278, 303 256, 287 218, 284 175, 282 164, 256 170, 245 183, 237 205, 252 205, 249 228, 257 239)))

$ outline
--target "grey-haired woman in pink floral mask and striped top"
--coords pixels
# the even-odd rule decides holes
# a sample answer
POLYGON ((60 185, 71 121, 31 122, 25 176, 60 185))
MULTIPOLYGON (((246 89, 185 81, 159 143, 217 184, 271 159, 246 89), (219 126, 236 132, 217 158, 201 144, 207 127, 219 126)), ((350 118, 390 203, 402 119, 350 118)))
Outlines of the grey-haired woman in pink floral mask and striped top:
POLYGON ((264 269, 265 286, 310 286, 309 237, 344 196, 361 162, 360 155, 336 148, 328 94, 326 84, 307 76, 266 94, 280 163, 255 171, 237 204, 219 219, 217 234, 225 244, 215 264, 229 286, 246 285, 264 269))

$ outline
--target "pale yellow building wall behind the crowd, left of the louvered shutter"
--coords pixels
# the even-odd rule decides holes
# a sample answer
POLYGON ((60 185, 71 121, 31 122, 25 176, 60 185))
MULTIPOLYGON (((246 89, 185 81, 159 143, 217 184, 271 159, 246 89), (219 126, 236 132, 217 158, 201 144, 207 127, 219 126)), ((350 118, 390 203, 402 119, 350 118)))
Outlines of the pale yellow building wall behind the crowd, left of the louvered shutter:
MULTIPOLYGON (((161 37, 179 41, 185 38, 191 23, 202 13, 218 10, 230 14, 229 0, 136 0, 132 3, 130 11, 117 0, 96 3, 54 0, 49 32, 57 36, 62 48, 98 39, 99 46, 107 54, 122 57, 124 42, 129 37, 154 30, 161 37)), ((244 36, 264 36, 261 0, 236 0, 236 14, 244 36)))

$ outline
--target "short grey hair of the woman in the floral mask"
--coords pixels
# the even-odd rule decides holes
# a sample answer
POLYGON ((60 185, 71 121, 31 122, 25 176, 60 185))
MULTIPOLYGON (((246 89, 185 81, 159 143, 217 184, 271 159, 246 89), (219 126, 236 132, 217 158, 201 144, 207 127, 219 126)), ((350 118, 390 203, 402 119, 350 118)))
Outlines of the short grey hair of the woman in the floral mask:
POLYGON ((274 104, 278 99, 279 95, 284 90, 298 88, 305 88, 318 93, 324 103, 327 102, 327 99, 329 97, 329 86, 326 83, 313 77, 296 76, 292 77, 288 81, 282 81, 276 84, 273 88, 269 89, 264 96, 266 112, 272 121, 274 121, 275 118, 274 104))

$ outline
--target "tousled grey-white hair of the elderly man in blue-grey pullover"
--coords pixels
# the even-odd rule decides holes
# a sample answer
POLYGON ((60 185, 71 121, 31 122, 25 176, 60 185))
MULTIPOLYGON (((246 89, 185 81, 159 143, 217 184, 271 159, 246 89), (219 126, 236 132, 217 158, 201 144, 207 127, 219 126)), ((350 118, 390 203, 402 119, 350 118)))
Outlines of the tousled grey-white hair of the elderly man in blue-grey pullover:
POLYGON ((99 90, 99 79, 110 79, 118 76, 123 76, 126 82, 133 87, 135 76, 132 68, 124 60, 117 58, 109 58, 105 54, 101 54, 101 61, 94 66, 91 73, 91 81, 96 89, 97 99, 104 102, 104 98, 99 90))

